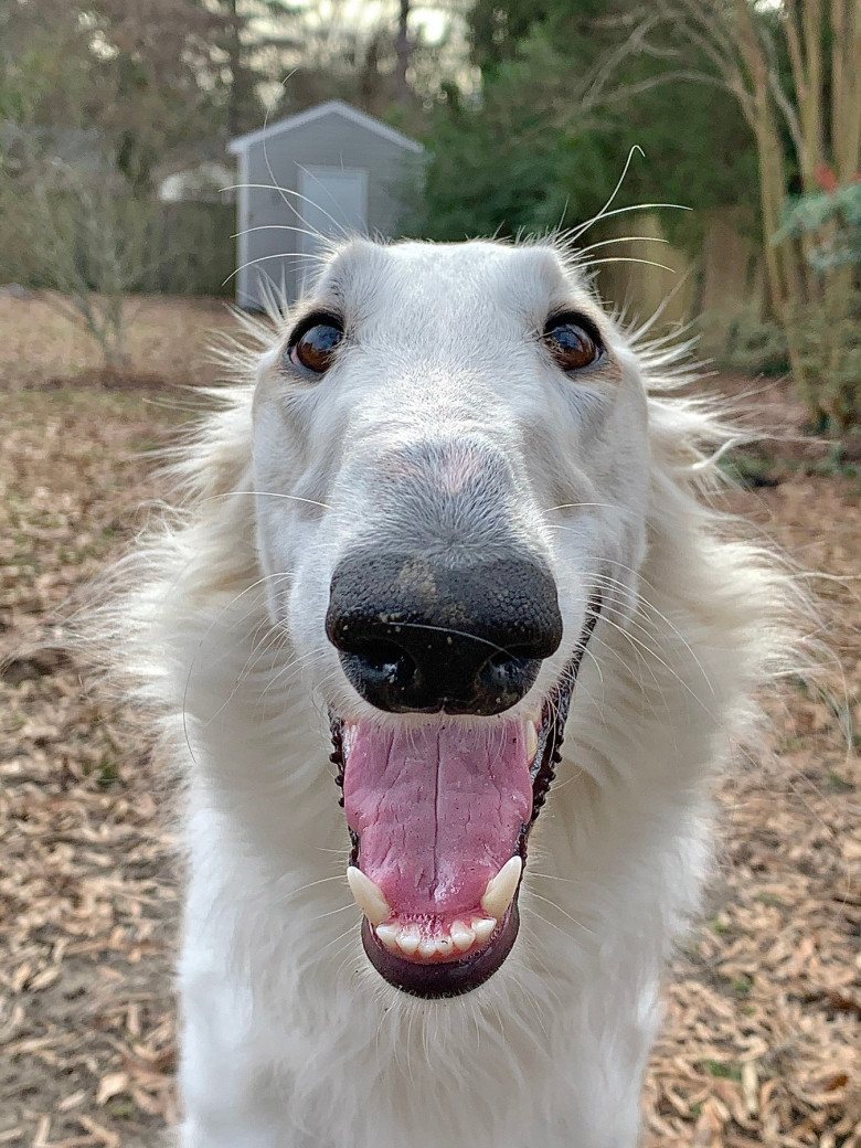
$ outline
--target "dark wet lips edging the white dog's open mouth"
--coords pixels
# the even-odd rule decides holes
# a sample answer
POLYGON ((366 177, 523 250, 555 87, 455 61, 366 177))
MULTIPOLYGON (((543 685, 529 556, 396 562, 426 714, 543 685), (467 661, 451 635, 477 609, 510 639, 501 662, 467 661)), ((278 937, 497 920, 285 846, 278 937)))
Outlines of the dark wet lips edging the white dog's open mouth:
MULTIPOLYGON (((515 853, 523 861, 528 854, 529 833, 537 821, 548 793, 556 777, 556 768, 561 760, 561 746, 565 738, 565 724, 568 720, 571 699, 580 672, 583 654, 600 616, 602 603, 592 598, 587 607, 587 618, 574 653, 565 664, 561 674, 552 687, 542 707, 541 734, 538 750, 533 766, 533 808, 529 823, 520 829, 515 853)), ((332 753, 329 760, 336 767, 335 783, 341 790, 340 805, 343 806, 343 775, 346 759, 343 753, 343 720, 329 711, 332 732, 332 753)), ((350 864, 358 866, 360 840, 350 830, 351 853, 350 864)), ((449 996, 460 996, 484 984, 502 967, 511 953, 520 930, 519 898, 521 884, 501 926, 488 939, 478 953, 451 961, 421 963, 400 957, 389 952, 374 934, 371 923, 362 918, 362 945, 369 961, 380 976, 395 988, 412 996, 425 1000, 441 1000, 449 996)))

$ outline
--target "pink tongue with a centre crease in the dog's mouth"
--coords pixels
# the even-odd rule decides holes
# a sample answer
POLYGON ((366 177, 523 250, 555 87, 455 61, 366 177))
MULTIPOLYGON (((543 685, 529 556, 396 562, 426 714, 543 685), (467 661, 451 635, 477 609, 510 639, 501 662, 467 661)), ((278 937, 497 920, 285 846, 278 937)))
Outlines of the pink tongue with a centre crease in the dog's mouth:
POLYGON ((362 870, 398 916, 478 909, 532 815, 523 722, 360 722, 344 735, 344 808, 362 870))

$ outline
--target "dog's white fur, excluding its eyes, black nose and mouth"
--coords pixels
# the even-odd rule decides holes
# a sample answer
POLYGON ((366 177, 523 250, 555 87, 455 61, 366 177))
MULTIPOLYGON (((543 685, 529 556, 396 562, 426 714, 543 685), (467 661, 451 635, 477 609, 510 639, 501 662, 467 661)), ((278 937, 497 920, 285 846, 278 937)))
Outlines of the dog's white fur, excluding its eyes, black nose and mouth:
POLYGON ((183 1148, 631 1148, 662 970, 708 866, 709 778, 783 665, 790 581, 708 506, 732 428, 551 245, 356 241, 313 301, 352 325, 338 366, 284 371, 282 321, 184 450, 185 509, 99 621, 188 778, 183 1148), (561 304, 599 323, 603 372, 549 362, 561 304), (519 939, 448 1001, 398 993, 362 952, 326 707, 372 711, 323 631, 338 557, 417 512, 387 474, 428 437, 504 460, 499 513, 556 576, 565 639, 522 705, 605 598, 519 939))

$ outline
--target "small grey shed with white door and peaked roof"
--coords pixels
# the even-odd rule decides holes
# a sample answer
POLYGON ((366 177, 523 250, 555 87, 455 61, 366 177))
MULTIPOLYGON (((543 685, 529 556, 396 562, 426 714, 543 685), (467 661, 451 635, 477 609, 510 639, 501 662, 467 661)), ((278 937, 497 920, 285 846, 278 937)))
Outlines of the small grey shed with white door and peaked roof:
POLYGON ((320 235, 396 236, 422 153, 341 100, 240 135, 228 149, 239 166, 236 301, 249 309, 262 307, 266 281, 298 295, 320 235))

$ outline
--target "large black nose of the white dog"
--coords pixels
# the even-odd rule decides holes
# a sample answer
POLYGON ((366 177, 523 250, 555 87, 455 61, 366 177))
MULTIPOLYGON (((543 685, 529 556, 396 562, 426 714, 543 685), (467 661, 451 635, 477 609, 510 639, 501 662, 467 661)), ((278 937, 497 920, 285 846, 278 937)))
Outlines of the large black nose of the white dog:
POLYGON ((326 634, 378 709, 497 714, 535 682, 563 620, 550 572, 533 557, 456 567, 360 551, 335 569, 326 634))

